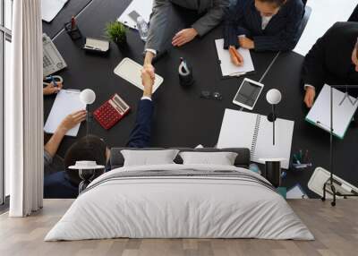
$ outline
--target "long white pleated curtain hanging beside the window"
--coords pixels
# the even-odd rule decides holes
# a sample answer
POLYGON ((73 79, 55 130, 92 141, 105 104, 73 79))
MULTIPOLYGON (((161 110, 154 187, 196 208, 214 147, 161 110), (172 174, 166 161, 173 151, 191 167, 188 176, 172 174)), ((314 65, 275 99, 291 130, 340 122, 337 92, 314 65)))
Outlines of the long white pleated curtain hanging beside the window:
POLYGON ((40 0, 13 1, 12 82, 5 88, 5 167, 11 217, 42 208, 43 96, 40 0))

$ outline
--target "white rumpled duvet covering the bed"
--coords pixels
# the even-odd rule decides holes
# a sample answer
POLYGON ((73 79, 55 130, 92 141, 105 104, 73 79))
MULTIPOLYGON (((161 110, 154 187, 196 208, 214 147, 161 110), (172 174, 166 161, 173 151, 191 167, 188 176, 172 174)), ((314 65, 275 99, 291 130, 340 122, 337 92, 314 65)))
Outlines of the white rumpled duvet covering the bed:
POLYGON ((313 240, 277 192, 231 178, 129 178, 101 183, 116 172, 235 170, 234 166, 122 167, 99 176, 72 203, 45 241, 130 238, 262 238, 313 240))

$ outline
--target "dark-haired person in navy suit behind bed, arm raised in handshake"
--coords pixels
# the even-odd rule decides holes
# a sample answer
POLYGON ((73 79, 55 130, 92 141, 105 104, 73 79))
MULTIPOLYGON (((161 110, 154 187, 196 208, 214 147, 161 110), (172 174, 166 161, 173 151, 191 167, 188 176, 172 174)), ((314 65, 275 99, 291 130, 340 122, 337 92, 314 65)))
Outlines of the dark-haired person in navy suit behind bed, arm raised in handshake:
MULTIPOLYGON (((153 103, 151 101, 154 80, 148 71, 141 73, 144 86, 143 96, 138 106, 137 118, 131 132, 127 147, 149 147, 151 118, 153 103)), ((86 136, 75 142, 64 156, 64 167, 75 165, 76 161, 96 161, 100 166, 107 166, 110 151, 107 144, 97 136, 86 136)), ((107 167, 107 171, 109 168, 107 167)), ((76 170, 66 170, 45 176, 45 198, 75 198, 78 195, 78 186, 81 179, 76 170)))

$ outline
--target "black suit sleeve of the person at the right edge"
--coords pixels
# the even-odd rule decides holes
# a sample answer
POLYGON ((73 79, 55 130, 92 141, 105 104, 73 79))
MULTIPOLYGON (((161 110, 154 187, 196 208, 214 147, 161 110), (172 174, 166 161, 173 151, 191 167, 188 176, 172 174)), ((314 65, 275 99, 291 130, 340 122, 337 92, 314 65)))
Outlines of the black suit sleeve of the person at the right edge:
POLYGON ((326 77, 324 64, 328 32, 317 40, 303 61, 303 84, 312 85, 318 90, 323 87, 326 77))

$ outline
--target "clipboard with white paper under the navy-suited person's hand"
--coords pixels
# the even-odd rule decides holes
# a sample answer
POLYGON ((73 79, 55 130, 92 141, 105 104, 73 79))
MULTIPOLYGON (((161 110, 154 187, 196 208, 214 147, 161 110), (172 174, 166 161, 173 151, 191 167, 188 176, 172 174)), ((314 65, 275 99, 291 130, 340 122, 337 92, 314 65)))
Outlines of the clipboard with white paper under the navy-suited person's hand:
POLYGON ((240 76, 245 73, 250 73, 255 70, 253 67, 250 50, 239 48, 239 53, 243 56, 243 65, 237 66, 231 62, 230 53, 224 49, 224 39, 216 39, 215 45, 217 47, 217 56, 223 76, 236 75, 240 76))

